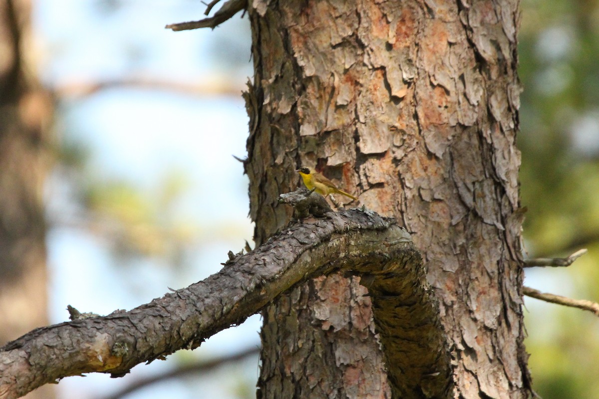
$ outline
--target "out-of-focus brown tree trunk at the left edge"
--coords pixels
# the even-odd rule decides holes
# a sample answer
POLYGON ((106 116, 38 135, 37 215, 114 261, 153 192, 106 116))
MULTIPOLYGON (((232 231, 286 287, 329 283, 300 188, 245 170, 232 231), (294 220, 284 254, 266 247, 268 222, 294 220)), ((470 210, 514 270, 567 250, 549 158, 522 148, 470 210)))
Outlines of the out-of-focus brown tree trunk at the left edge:
MULTIPOLYGON (((46 226, 52 99, 31 63, 31 4, 0 2, 0 346, 47 325, 46 226)), ((53 397, 51 386, 27 398, 53 397)))

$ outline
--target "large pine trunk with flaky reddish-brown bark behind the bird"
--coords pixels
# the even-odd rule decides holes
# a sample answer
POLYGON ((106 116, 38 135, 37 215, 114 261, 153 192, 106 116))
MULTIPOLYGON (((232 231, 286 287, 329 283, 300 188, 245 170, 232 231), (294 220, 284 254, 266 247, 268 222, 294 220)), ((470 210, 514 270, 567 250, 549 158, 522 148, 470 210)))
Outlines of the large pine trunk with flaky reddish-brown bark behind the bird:
MULTIPOLYGON (((294 170, 316 166, 413 232, 452 348, 453 396, 527 397, 518 1, 255 0, 249 17, 256 241, 288 220, 276 199, 298 184, 294 170)), ((268 307, 259 397, 389 397, 364 294, 319 278, 268 307)))

